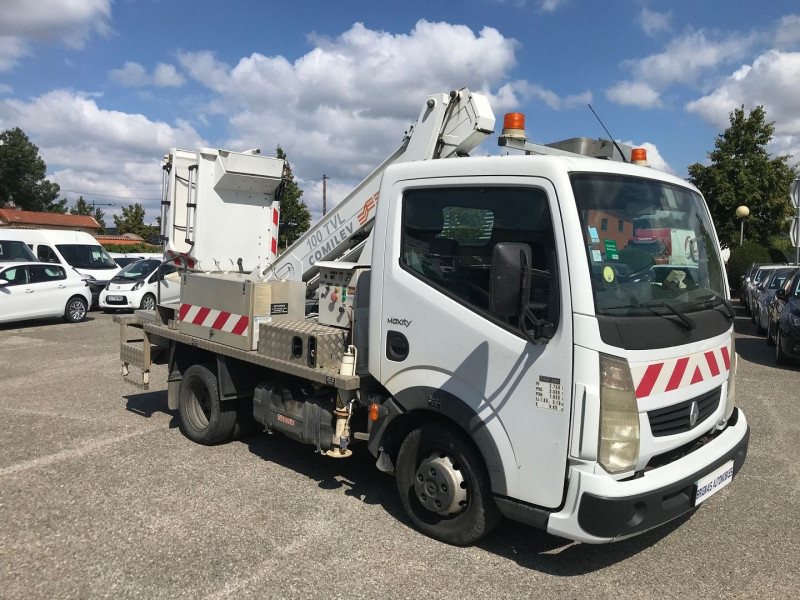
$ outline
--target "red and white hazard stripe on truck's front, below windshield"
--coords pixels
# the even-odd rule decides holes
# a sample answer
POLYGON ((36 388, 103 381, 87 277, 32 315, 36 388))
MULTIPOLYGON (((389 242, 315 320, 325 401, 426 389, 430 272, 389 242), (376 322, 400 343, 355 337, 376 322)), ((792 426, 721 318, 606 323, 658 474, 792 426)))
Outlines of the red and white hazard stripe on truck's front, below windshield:
POLYGON ((730 349, 720 346, 664 362, 632 365, 631 375, 636 397, 646 398, 707 381, 730 369, 730 349))

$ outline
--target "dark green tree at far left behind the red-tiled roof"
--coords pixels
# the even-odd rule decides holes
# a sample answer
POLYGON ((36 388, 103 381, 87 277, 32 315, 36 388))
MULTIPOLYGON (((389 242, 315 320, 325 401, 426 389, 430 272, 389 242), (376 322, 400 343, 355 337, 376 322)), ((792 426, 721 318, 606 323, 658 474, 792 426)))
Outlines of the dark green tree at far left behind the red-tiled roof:
POLYGON ((44 178, 47 165, 39 148, 19 127, 0 133, 0 198, 23 210, 63 213, 66 200, 57 201, 60 188, 44 178))

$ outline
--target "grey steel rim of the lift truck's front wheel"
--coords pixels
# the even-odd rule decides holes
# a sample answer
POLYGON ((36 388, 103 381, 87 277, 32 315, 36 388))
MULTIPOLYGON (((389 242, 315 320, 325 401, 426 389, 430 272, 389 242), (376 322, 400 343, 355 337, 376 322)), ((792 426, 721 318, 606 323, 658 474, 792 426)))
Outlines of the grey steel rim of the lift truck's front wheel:
POLYGON ((423 508, 439 515, 453 516, 467 508, 467 481, 444 452, 434 452, 420 463, 414 493, 423 508))

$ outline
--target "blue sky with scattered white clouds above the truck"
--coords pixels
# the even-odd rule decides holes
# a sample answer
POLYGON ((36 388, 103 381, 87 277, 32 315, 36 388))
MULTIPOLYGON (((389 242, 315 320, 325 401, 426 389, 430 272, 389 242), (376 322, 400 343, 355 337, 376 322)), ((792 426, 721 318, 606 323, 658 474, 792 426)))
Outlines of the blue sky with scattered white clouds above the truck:
MULTIPOLYGON (((0 130, 107 215, 155 220, 170 147, 286 151, 312 214, 390 154, 430 93, 469 87, 547 143, 604 136, 686 176, 736 107, 800 159, 795 1, 0 0, 0 130), (105 206, 113 203, 114 206, 105 206)), ((494 139, 481 153, 498 153, 494 139)), ((107 219, 111 224, 111 219, 107 219)))

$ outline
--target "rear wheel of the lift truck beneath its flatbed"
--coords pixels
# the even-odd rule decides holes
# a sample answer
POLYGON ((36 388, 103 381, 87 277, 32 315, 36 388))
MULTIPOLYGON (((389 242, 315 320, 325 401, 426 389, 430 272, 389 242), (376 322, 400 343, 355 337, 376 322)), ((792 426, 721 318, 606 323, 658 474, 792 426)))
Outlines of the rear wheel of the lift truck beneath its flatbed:
POLYGON ((209 365, 192 365, 178 388, 181 431, 193 442, 210 446, 231 437, 236 425, 236 403, 219 401, 217 376, 209 365))

